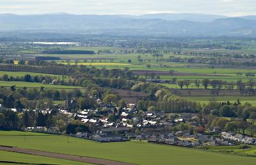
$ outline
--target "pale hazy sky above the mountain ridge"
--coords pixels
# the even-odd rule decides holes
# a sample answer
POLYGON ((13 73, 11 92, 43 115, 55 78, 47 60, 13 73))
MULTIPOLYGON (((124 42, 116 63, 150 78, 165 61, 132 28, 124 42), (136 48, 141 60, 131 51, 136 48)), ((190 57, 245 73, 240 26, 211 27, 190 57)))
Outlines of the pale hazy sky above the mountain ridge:
POLYGON ((0 0, 0 13, 256 15, 256 0, 0 0))

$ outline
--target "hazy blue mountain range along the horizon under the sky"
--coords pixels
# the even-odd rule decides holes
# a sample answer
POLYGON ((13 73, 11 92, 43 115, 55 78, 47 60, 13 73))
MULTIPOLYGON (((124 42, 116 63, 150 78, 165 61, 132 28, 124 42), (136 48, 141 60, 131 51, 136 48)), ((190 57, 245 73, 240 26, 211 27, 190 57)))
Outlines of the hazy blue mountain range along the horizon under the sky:
POLYGON ((115 35, 256 36, 256 16, 158 13, 132 15, 0 14, 0 31, 115 35))

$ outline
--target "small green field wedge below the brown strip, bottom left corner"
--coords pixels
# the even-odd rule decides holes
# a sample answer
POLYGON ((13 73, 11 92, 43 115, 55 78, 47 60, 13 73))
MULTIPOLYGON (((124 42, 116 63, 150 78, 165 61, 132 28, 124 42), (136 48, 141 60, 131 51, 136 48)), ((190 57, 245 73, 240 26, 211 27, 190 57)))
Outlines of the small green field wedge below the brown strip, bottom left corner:
MULTIPOLYGON (((0 151, 0 161, 9 161, 17 162, 16 164, 61 164, 61 165, 70 165, 70 164, 84 164, 83 162, 68 161, 64 159, 54 159, 50 157, 41 157, 35 155, 29 155, 24 153, 15 153, 15 152, 5 152, 0 151)), ((15 163, 4 163, 0 164, 15 164, 15 163)))

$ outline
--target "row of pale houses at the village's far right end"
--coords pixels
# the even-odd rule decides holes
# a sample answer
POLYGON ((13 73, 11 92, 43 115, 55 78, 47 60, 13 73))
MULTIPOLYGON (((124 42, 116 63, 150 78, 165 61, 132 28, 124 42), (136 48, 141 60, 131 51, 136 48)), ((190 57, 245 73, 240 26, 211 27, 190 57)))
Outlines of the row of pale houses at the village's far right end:
POLYGON ((221 132, 221 138, 236 141, 238 143, 245 143, 247 145, 256 145, 256 139, 233 132, 221 132))

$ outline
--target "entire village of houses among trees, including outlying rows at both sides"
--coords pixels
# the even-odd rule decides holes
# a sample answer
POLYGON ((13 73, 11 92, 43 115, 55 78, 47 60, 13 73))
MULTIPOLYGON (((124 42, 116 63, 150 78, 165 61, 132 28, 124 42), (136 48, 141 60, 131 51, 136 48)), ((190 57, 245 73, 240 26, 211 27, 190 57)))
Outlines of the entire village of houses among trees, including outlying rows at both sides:
MULTIPOLYGON (((118 142, 118 141, 148 141, 165 145, 200 147, 200 146, 232 146, 246 144, 256 145, 255 138, 225 132, 220 127, 211 127, 208 132, 200 130, 191 131, 182 128, 182 125, 190 123, 193 129, 200 129, 204 121, 200 122, 200 116, 193 113, 172 114, 167 117, 166 113, 159 111, 141 112, 136 109, 136 104, 127 104, 122 109, 116 109, 113 105, 99 104, 104 111, 98 109, 83 109, 77 113, 70 113, 65 109, 58 109, 58 113, 69 118, 80 120, 88 130, 70 133, 67 136, 91 139, 93 141, 118 142), (169 127, 177 128, 175 131, 169 127)), ((67 106, 72 106, 73 101, 67 106)), ((3 109, 3 106, 0 106, 3 109)), ((17 111, 17 109, 11 109, 17 111)), ((24 110, 26 111, 26 110, 24 110)), ((32 110, 36 111, 36 110, 32 110)), ((51 109, 45 109, 43 114, 51 113, 51 109)), ((48 134, 61 134, 58 127, 27 127, 24 129, 31 132, 44 132, 48 134)))

